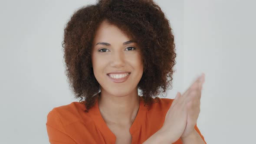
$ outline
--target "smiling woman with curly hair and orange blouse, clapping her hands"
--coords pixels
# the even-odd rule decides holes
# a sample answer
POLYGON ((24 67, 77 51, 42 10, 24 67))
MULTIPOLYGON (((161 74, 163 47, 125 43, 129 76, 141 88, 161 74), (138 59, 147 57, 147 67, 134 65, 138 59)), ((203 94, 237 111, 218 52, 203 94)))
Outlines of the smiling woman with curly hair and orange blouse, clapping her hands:
POLYGON ((51 144, 205 143, 196 125, 204 75, 175 99, 155 97, 171 85, 177 54, 153 1, 82 7, 67 23, 62 46, 66 75, 81 99, 49 112, 51 144))

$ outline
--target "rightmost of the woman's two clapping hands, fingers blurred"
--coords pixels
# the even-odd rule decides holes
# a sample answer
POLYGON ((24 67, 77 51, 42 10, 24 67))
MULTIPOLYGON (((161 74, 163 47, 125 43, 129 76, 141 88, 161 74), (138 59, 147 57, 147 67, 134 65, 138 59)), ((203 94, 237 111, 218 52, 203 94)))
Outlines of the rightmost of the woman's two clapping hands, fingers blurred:
POLYGON ((205 81, 204 73, 194 82, 193 85, 181 96, 185 97, 187 101, 187 125, 186 128, 181 135, 181 138, 184 139, 190 134, 193 134, 195 131, 194 127, 197 123, 197 118, 200 113, 200 98, 201 98, 201 91, 202 86, 205 81))

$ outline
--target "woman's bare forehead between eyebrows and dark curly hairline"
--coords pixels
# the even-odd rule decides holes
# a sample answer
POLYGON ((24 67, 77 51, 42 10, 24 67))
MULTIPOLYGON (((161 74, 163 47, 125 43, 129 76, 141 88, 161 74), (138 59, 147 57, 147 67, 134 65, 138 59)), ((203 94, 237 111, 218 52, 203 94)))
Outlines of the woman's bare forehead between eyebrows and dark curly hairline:
POLYGON ((98 42, 126 42, 131 40, 131 37, 126 35, 121 29, 117 26, 103 21, 96 30, 94 36, 94 43, 98 42))

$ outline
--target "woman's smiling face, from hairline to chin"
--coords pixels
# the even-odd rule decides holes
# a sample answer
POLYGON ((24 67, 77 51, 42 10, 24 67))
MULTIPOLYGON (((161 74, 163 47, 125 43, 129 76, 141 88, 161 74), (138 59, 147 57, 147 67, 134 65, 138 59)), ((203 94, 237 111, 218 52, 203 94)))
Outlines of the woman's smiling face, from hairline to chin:
POLYGON ((141 49, 134 39, 107 21, 95 33, 92 67, 101 92, 115 96, 138 94, 137 85, 143 74, 141 49))

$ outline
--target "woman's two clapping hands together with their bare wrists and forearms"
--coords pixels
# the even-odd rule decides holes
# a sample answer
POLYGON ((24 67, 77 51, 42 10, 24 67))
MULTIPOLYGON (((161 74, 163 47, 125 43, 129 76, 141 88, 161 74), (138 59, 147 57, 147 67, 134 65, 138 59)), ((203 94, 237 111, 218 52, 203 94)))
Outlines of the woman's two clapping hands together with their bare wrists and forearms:
POLYGON ((205 144, 194 129, 200 113, 200 98, 205 75, 202 74, 181 95, 177 93, 166 113, 163 127, 143 144, 172 144, 181 137, 183 144, 205 144))

